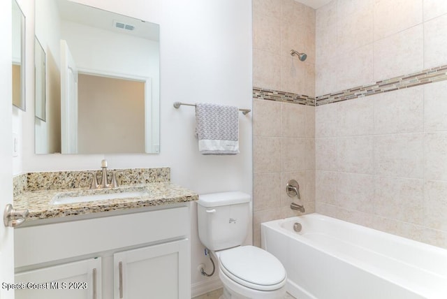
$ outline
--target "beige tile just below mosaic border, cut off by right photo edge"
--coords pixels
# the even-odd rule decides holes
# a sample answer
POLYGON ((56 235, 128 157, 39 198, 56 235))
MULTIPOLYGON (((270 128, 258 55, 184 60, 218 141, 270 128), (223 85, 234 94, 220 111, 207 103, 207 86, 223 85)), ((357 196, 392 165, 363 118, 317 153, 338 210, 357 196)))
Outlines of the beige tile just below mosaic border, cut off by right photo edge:
MULTIPOLYGON (((446 1, 447 3, 447 1, 446 1)), ((447 81, 424 85, 424 130, 447 131, 447 81)))

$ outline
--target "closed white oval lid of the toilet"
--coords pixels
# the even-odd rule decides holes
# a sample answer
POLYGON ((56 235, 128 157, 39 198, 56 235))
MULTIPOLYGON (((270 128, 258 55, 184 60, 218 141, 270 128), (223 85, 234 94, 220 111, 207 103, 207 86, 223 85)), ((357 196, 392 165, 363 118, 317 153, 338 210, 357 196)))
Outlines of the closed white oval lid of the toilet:
POLYGON ((230 278, 252 289, 279 289, 286 283, 286 270, 281 262, 258 247, 241 246, 221 251, 219 261, 222 271, 230 278))

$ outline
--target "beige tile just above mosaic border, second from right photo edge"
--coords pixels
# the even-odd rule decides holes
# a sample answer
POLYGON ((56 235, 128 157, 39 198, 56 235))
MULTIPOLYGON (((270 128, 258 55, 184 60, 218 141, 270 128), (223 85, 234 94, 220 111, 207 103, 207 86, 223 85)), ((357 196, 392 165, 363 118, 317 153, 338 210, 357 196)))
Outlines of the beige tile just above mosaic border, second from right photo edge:
POLYGON ((423 52, 422 24, 374 42, 374 81, 422 70, 423 52))

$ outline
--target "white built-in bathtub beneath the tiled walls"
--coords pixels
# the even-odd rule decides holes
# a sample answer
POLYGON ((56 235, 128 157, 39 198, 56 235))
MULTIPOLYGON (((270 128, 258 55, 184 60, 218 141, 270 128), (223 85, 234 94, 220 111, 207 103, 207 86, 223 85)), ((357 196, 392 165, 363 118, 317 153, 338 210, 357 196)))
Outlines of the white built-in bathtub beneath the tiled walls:
POLYGON ((447 298, 446 249, 316 213, 261 224, 261 242, 298 299, 447 298))

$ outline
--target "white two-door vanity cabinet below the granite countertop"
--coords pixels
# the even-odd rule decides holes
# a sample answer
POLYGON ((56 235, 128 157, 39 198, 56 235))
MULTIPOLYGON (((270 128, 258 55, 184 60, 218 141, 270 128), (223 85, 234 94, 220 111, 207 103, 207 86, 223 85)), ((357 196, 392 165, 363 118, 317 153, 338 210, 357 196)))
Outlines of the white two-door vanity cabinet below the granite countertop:
POLYGON ((89 282, 83 293, 31 289, 16 298, 189 299, 189 227, 182 206, 16 228, 16 282, 89 282))

